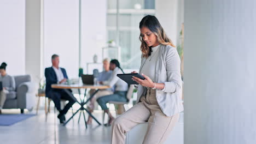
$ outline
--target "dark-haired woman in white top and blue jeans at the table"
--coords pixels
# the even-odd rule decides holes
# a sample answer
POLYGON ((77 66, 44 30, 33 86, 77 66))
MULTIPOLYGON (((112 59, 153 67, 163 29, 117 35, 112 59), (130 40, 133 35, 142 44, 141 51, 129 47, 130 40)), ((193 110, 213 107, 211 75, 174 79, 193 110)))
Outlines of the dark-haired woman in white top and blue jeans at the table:
POLYGON ((100 83, 103 85, 108 85, 110 87, 115 87, 114 94, 106 95, 97 99, 98 104, 101 106, 101 109, 104 110, 104 112, 106 112, 109 116, 109 121, 107 123, 108 126, 113 122, 114 117, 110 114, 106 104, 109 101, 128 101, 126 98, 128 84, 125 81, 119 79, 119 77, 117 76, 117 74, 124 73, 123 69, 120 68, 120 64, 117 59, 113 59, 112 61, 110 61, 109 69, 113 70, 110 79, 108 81, 103 81, 100 83))

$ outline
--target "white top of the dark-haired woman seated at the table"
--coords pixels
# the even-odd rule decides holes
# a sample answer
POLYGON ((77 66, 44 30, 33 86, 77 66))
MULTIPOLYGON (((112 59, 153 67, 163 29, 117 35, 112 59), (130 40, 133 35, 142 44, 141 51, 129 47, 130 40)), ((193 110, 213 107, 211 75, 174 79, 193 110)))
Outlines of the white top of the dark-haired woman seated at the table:
POLYGON ((110 77, 109 80, 107 81, 103 81, 103 84, 104 85, 108 85, 110 87, 113 87, 115 86, 115 91, 121 91, 121 92, 124 92, 124 91, 127 91, 128 89, 128 84, 121 80, 117 74, 123 74, 123 72, 121 71, 121 69, 119 69, 118 67, 116 67, 113 72, 112 72, 112 75, 110 77))

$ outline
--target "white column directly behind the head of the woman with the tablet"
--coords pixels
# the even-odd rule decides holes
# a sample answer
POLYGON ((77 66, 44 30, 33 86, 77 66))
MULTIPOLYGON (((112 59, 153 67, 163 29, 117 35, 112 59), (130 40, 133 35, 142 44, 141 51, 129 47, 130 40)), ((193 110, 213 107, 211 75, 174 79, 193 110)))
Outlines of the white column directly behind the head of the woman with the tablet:
POLYGON ((171 38, 174 45, 177 43, 177 11, 178 0, 155 1, 156 18, 158 18, 167 35, 171 38))

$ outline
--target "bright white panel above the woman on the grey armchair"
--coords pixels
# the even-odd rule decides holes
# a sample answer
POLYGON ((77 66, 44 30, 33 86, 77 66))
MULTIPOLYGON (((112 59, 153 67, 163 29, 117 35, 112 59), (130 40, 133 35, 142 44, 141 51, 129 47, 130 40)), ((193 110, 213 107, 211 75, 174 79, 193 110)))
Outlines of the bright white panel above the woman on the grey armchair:
POLYGON ((25 74, 25 0, 1 0, 0 20, 0 63, 10 75, 25 74))

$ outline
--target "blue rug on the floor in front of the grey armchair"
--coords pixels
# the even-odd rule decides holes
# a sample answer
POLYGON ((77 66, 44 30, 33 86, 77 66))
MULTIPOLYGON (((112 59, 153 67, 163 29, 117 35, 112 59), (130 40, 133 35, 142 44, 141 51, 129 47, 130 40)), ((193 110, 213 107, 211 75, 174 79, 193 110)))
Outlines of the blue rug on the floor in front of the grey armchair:
POLYGON ((15 123, 24 121, 27 118, 34 116, 35 114, 1 114, 0 115, 0 125, 8 126, 15 123))

